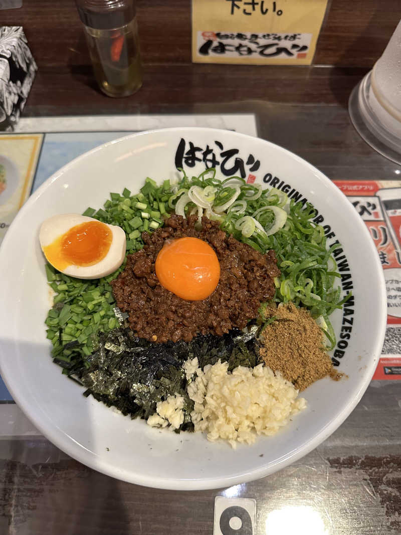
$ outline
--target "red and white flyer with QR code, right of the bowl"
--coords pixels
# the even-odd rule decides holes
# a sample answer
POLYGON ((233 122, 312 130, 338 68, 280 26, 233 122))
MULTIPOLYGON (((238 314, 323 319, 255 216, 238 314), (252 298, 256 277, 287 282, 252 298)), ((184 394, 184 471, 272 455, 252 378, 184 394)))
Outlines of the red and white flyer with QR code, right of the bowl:
POLYGON ((372 236, 387 290, 387 330, 373 379, 401 379, 401 181, 336 180, 372 236))

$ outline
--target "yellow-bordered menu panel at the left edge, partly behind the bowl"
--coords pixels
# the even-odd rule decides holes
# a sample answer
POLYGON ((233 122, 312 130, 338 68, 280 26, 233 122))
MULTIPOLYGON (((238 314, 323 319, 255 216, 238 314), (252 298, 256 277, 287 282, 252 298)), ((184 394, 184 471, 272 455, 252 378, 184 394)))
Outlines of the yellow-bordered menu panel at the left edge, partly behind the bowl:
POLYGON ((0 243, 30 195, 43 134, 0 135, 0 243))

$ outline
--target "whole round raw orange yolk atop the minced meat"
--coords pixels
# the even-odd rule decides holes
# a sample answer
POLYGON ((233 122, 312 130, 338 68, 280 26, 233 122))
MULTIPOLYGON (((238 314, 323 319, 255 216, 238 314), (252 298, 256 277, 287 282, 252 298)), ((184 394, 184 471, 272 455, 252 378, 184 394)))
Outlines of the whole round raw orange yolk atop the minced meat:
POLYGON ((187 301, 201 301, 219 284, 220 264, 214 250, 198 238, 166 243, 156 258, 161 286, 187 301))

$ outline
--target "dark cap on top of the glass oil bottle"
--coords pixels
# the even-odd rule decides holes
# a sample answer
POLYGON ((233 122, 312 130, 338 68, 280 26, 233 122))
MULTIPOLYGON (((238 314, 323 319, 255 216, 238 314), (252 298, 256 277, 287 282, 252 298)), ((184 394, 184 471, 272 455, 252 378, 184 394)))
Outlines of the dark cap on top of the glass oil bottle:
POLYGON ((135 16, 133 0, 75 0, 81 21, 104 30, 129 24, 135 16))

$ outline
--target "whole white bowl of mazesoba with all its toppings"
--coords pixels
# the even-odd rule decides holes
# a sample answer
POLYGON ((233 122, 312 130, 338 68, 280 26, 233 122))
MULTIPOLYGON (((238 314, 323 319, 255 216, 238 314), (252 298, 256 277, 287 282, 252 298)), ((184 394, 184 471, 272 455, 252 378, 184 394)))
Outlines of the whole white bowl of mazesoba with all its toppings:
POLYGON ((209 128, 130 135, 27 201, 0 249, 0 363, 37 428, 135 484, 218 488, 310 452, 385 328, 363 221, 312 165, 209 128))

